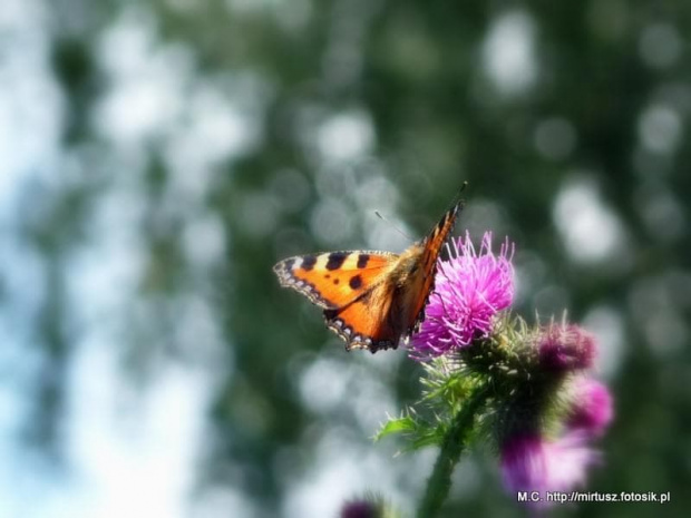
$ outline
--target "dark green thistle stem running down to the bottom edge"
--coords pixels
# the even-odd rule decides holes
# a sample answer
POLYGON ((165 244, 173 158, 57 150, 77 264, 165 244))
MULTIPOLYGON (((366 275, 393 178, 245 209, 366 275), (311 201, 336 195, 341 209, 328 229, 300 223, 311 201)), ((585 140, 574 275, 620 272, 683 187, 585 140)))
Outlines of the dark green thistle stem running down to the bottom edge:
POLYGON ((466 447, 468 434, 478 409, 487 399, 485 387, 477 388, 458 411, 448 429, 437 462, 432 470, 422 501, 418 507, 418 518, 434 518, 439 512, 451 488, 451 473, 466 447))

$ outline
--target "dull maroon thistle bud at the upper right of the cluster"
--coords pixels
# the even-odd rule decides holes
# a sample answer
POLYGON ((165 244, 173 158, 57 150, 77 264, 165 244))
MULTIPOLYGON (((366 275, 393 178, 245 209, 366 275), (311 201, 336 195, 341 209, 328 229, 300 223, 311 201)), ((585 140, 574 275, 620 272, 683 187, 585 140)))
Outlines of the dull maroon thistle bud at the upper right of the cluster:
POLYGON ((577 325, 549 325, 538 339, 541 366, 566 372, 590 369, 595 360, 594 336, 577 325))

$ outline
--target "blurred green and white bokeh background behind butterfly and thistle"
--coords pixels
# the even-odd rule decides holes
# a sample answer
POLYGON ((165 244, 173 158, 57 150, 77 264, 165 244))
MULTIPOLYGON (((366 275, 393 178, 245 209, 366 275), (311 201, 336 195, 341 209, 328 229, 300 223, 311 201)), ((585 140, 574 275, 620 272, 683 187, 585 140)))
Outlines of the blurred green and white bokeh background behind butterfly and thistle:
MULTIPOLYGON (((1 0, 0 516, 411 509, 435 450, 371 437, 419 366, 271 266, 400 251, 464 180, 516 310, 598 336, 588 489, 672 497, 555 514, 689 516, 690 33, 687 0, 1 0)), ((513 500, 477 450, 445 512, 513 500)))

